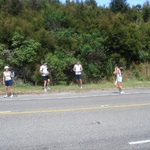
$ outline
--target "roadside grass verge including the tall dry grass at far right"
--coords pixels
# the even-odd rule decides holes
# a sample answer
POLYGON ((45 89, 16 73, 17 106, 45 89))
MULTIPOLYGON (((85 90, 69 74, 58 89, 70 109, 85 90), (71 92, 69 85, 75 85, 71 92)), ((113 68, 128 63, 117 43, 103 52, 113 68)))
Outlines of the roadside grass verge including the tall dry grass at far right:
MULTIPOLYGON (((123 69, 123 88, 150 88, 150 64, 141 63, 140 65, 132 64, 130 69, 123 69)), ((114 86, 115 76, 108 80, 104 79, 99 81, 97 84, 83 84, 83 89, 80 89, 75 83, 71 85, 52 85, 53 92, 81 92, 88 90, 109 90, 115 89, 114 86)), ((84 82, 83 82, 84 83, 84 82)), ((17 83, 13 85, 13 91, 17 94, 44 94, 43 86, 33 86, 29 84, 17 83)), ((5 94, 4 85, 0 85, 0 94, 5 94)))

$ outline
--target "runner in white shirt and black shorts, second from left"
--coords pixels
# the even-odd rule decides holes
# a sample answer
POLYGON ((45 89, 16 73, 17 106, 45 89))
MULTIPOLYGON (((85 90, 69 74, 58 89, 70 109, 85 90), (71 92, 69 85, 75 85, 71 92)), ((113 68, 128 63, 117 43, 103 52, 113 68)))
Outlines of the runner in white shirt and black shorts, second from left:
POLYGON ((47 62, 43 62, 42 66, 40 67, 40 73, 42 75, 42 80, 44 81, 44 91, 47 92, 48 90, 50 90, 50 78, 48 76, 49 72, 48 72, 48 67, 47 67, 47 62))

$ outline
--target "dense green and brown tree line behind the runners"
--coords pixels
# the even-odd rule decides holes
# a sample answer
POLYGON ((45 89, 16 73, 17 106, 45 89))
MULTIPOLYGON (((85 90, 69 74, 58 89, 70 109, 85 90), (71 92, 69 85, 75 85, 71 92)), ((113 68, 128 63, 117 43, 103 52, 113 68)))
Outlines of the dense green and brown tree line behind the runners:
POLYGON ((126 69, 149 63, 150 3, 0 0, 1 72, 9 65, 16 80, 41 84, 44 60, 53 84, 69 84, 77 60, 86 83, 109 80, 116 63, 126 69))

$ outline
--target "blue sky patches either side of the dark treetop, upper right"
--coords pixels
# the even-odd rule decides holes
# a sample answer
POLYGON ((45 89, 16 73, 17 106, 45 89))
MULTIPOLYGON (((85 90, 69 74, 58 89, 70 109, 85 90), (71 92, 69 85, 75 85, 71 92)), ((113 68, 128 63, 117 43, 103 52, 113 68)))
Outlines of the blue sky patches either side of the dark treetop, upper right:
MULTIPOLYGON (((132 7, 137 4, 143 5, 146 1, 150 2, 150 0, 127 0, 127 3, 132 7)), ((108 6, 111 0, 96 0, 96 2, 98 6, 108 6)))

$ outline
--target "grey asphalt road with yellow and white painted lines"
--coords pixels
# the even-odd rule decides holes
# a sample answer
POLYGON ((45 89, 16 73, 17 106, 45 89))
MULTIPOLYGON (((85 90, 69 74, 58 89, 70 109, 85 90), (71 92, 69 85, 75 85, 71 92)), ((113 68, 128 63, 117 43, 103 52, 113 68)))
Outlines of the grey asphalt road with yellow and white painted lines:
POLYGON ((150 150, 150 89, 0 96, 0 150, 150 150))

